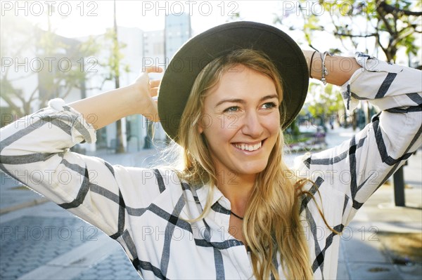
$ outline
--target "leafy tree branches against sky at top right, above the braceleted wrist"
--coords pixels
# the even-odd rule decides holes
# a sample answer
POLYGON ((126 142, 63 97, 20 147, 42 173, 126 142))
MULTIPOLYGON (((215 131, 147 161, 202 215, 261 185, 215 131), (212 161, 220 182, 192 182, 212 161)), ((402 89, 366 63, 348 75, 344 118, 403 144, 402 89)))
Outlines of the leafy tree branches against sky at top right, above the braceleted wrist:
MULTIPOLYGON (((302 15, 302 24, 295 18, 289 24, 290 29, 302 29, 305 41, 313 48, 316 34, 324 33, 324 36, 331 34, 338 39, 339 46, 345 50, 357 49, 362 43, 366 53, 373 51, 372 54, 378 56, 381 50, 388 62, 395 62, 400 48, 407 55, 416 55, 419 49, 415 41, 422 33, 422 1, 302 0, 296 8, 295 14, 302 15)), ((288 22, 292 13, 283 11, 283 15, 278 16, 276 22, 288 22)), ((331 51, 338 52, 339 48, 331 48, 331 51)))

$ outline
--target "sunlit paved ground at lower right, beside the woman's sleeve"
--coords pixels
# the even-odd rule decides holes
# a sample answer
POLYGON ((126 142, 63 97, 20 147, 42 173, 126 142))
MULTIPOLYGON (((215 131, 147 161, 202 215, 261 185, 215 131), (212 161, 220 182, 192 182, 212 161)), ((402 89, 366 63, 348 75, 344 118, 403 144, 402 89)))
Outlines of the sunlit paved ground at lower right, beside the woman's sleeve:
POLYGON ((340 242, 338 279, 421 279, 421 163, 419 150, 404 167, 406 207, 394 206, 393 186, 383 185, 359 210, 340 242), (407 244, 414 238, 416 248, 407 244), (392 242, 413 247, 418 262, 412 261, 404 248, 395 251, 397 245, 392 242))

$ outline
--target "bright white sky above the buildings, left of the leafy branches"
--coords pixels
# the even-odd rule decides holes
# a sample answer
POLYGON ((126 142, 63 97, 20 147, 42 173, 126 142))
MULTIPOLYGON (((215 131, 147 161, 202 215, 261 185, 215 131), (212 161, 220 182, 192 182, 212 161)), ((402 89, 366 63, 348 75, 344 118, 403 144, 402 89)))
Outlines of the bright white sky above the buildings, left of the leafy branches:
MULTIPOLYGON (((2 1, 1 13, 25 15, 27 20, 45 27, 50 20, 62 36, 80 37, 101 34, 113 26, 113 2, 102 1, 2 1), (16 9, 18 8, 18 9, 16 9), (44 13, 43 13, 44 12, 44 13)), ((116 1, 117 25, 144 31, 164 29, 166 13, 191 15, 194 32, 226 22, 240 13, 244 20, 272 24, 281 1, 116 1)))

